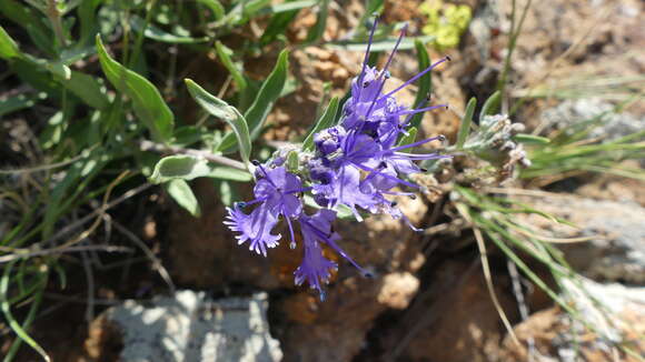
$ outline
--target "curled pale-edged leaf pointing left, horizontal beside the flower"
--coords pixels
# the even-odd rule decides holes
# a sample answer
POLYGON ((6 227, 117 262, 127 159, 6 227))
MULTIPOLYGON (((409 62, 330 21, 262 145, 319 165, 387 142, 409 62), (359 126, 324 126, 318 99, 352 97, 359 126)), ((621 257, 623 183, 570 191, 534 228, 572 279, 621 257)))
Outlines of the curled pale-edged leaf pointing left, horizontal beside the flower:
POLYGON ((192 180, 197 178, 211 178, 247 182, 252 179, 251 174, 238 169, 211 165, 206 159, 190 154, 165 157, 155 165, 150 175, 150 182, 163 183, 171 180, 192 180))

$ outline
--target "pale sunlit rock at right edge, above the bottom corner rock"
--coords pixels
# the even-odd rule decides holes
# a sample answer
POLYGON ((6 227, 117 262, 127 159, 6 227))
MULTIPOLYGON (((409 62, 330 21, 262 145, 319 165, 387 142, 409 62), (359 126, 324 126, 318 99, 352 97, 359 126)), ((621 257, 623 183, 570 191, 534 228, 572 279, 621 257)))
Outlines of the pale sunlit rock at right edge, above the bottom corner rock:
POLYGON ((601 281, 645 283, 645 209, 635 203, 596 201, 575 197, 533 199, 535 209, 573 222, 577 228, 554 223, 538 215, 519 217, 524 224, 557 240, 572 267, 601 281))

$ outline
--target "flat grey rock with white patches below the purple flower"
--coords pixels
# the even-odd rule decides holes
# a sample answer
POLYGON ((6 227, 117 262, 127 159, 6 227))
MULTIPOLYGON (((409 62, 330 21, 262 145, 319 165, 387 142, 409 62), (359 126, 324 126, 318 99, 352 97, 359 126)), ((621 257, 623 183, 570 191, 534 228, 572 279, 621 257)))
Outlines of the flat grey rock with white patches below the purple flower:
POLYGON ((119 360, 125 362, 280 361, 266 309, 265 293, 210 300, 204 292, 185 290, 150 304, 127 301, 92 323, 86 350, 92 359, 105 360, 120 344, 119 360))

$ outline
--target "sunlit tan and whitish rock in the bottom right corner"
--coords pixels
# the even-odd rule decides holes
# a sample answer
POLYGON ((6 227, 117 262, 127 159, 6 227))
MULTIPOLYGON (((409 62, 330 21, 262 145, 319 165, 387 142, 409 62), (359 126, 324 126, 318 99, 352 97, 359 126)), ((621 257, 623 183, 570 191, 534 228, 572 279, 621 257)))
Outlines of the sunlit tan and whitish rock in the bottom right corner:
MULTIPOLYGON (((645 333, 645 288, 601 284, 586 279, 582 280, 582 285, 607 309, 611 319, 604 318, 579 288, 565 281, 564 286, 573 291, 572 302, 580 311, 580 316, 601 334, 586 330, 557 306, 539 311, 514 329, 523 345, 534 343, 534 361, 579 361, 580 358, 588 362, 638 361, 612 342, 624 343, 636 354, 645 352, 642 339, 645 333)), ((506 361, 526 361, 528 350, 518 348, 506 338, 503 355, 506 361)))

